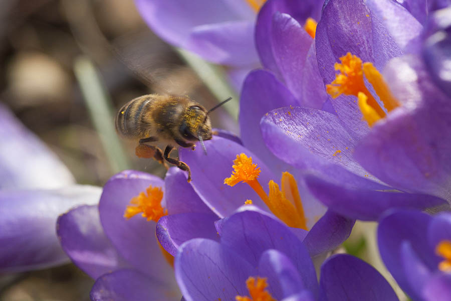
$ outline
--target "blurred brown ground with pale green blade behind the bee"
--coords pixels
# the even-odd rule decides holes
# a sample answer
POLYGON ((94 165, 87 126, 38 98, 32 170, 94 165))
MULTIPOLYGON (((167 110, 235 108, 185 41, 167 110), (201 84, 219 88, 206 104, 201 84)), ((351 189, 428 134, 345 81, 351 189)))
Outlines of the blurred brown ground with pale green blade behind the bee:
MULTIPOLYGON (((215 105, 201 77, 214 78, 220 70, 202 62, 193 69, 186 63, 192 59, 152 34, 132 0, 0 1, 0 104, 57 154, 79 184, 102 186, 124 169, 164 177, 159 164, 135 157, 136 142, 118 139, 114 116, 148 93, 215 105), (209 75, 199 73, 205 68, 209 75)), ((234 106, 236 112, 238 99, 228 110, 234 106)), ((213 126, 238 133, 236 114, 225 109, 211 114, 213 126)), ((92 284, 71 264, 0 274, 0 300, 89 300, 92 284)))

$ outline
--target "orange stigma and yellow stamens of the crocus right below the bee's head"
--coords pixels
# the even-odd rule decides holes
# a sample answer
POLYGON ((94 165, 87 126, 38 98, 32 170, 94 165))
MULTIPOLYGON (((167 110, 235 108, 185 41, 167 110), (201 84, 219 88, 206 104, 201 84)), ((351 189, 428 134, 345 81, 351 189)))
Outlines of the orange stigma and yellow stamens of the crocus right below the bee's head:
POLYGON ((253 164, 251 157, 243 153, 237 155, 232 167, 234 171, 230 178, 224 179, 224 184, 229 186, 235 186, 240 182, 248 184, 265 202, 271 212, 287 226, 308 230, 298 186, 290 173, 282 174, 282 190, 279 189, 279 185, 271 180, 268 183, 269 195, 267 195, 257 180, 261 172, 260 168, 257 168, 257 164, 253 164))

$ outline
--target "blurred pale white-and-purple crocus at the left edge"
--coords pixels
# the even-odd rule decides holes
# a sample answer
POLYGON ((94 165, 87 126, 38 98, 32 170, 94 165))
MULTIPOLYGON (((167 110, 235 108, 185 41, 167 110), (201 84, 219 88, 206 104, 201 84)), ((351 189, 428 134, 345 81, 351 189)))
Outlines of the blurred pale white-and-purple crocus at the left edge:
POLYGON ((67 167, 3 104, 0 120, 0 272, 67 263, 58 215, 96 204, 100 188, 75 185, 67 167))

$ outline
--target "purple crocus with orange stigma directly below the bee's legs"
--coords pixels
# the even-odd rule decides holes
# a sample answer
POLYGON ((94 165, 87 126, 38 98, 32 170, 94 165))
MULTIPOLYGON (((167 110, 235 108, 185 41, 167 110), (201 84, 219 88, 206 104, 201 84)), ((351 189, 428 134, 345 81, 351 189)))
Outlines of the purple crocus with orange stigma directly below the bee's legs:
POLYGON ((58 237, 71 260, 96 279, 93 300, 179 300, 172 256, 155 237, 155 221, 185 212, 216 219, 182 171, 170 169, 164 181, 124 171, 105 184, 98 207, 80 206, 62 215, 58 237), (144 218, 134 216, 138 213, 144 218))

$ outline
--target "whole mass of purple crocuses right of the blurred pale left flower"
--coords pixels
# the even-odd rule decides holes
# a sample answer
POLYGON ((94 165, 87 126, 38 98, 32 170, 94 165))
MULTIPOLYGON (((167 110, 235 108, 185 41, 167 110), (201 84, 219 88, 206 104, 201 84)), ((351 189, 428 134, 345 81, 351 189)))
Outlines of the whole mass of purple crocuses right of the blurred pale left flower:
POLYGON ((332 252, 379 221, 413 300, 451 296, 451 9, 443 1, 136 0, 169 43, 242 74, 241 136, 124 171, 60 216, 93 300, 397 300, 332 252), (330 256, 330 257, 329 257, 330 256), (318 281, 319 279, 319 281, 318 281))

